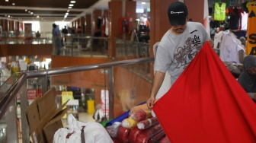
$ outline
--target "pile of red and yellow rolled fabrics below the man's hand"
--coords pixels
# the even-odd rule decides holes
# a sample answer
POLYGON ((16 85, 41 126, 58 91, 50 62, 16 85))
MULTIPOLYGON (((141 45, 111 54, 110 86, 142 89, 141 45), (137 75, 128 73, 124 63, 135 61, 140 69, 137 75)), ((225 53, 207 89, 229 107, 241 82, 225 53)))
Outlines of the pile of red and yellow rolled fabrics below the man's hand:
POLYGON ((122 142, 154 142, 165 137, 162 126, 156 117, 152 117, 146 103, 130 110, 130 116, 123 119, 117 134, 122 142))

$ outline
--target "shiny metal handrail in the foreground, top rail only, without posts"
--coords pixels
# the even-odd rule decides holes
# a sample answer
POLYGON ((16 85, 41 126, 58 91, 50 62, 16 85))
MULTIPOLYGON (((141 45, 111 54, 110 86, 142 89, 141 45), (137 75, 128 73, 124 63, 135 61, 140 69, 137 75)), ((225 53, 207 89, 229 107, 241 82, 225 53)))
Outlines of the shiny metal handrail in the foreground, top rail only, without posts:
POLYGON ((14 84, 11 85, 7 94, 5 94, 5 97, 3 97, 3 100, 0 101, 0 119, 2 119, 2 116, 5 115, 5 112, 6 110, 8 110, 8 106, 11 103, 11 100, 14 100, 14 98, 16 97, 16 94, 18 93, 21 86, 24 84, 24 81, 27 80, 27 78, 39 78, 39 77, 49 76, 49 75, 62 75, 62 74, 68 74, 68 73, 77 72, 77 71, 88 71, 88 70, 94 70, 98 68, 112 68, 118 65, 130 65, 133 63, 153 62, 153 61, 154 61, 154 58, 128 59, 128 60, 117 61, 117 62, 106 62, 106 63, 100 63, 100 64, 53 68, 50 70, 43 70, 43 71, 21 72, 21 76, 18 78, 17 81, 14 82, 14 84))

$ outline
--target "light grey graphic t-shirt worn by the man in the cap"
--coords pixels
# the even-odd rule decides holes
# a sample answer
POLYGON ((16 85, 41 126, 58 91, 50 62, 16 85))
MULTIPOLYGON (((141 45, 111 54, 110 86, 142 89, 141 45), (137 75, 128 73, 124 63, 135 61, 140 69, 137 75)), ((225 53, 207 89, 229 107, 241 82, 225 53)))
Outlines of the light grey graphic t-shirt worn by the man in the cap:
POLYGON ((197 22, 187 22, 186 30, 179 35, 168 30, 158 45, 154 70, 163 73, 168 70, 174 84, 209 39, 203 24, 197 22))

